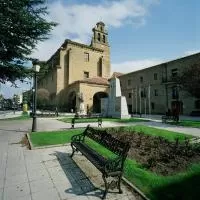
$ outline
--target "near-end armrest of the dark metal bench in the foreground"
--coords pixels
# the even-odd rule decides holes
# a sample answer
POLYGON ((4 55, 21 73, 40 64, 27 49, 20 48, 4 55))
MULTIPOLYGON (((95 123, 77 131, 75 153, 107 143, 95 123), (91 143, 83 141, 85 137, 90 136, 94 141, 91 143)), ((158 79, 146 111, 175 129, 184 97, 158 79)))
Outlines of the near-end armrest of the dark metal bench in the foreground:
POLYGON ((123 158, 118 157, 113 160, 108 160, 105 164, 105 172, 115 172, 115 171, 122 171, 123 169, 123 158))

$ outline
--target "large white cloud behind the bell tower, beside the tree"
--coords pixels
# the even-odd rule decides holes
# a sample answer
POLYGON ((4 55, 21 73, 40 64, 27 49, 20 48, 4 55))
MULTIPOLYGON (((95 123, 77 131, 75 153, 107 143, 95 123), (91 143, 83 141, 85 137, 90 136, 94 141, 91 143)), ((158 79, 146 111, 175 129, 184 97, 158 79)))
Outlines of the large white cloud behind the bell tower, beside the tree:
POLYGON ((90 42, 92 28, 98 21, 115 28, 125 24, 135 27, 144 25, 149 6, 157 2, 158 0, 104 0, 96 4, 69 4, 64 0, 53 1, 48 5, 47 19, 59 25, 54 28, 49 40, 38 44, 33 56, 47 60, 66 38, 90 42))

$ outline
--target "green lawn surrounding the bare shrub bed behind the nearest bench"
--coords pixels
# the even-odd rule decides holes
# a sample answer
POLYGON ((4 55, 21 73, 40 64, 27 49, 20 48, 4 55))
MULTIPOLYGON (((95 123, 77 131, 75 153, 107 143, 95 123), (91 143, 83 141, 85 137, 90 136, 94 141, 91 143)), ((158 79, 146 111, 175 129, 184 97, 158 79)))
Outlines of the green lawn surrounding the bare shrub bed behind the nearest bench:
MULTIPOLYGON (((161 136, 167 140, 174 141, 177 137, 183 140, 186 135, 151 128, 147 126, 125 127, 127 131, 137 130, 144 134, 161 136)), ((64 144, 71 141, 71 136, 79 134, 83 129, 54 132, 31 133, 30 138, 34 146, 64 144)), ((191 136, 189 136, 191 137, 191 136)), ((101 155, 113 158, 115 155, 90 139, 86 142, 101 155)), ((200 163, 193 164, 184 173, 174 176, 161 176, 143 168, 135 160, 127 159, 124 167, 124 176, 142 190, 150 199, 198 199, 200 196, 200 163)))

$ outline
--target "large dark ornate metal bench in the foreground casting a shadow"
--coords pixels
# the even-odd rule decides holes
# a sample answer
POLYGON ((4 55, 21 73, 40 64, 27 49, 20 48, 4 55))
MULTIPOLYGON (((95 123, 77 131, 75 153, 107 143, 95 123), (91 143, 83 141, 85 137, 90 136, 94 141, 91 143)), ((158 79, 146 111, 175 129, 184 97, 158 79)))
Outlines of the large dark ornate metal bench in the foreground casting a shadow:
POLYGON ((122 193, 120 183, 123 174, 124 161, 126 160, 130 148, 129 143, 121 142, 111 134, 108 134, 105 130, 94 129, 88 125, 82 134, 72 136, 71 147, 71 157, 73 157, 76 151, 80 151, 82 155, 84 155, 102 173, 102 178, 105 183, 105 191, 102 199, 106 198, 109 188, 114 189, 117 187, 119 193, 122 193), (108 159, 101 156, 85 143, 85 137, 92 139, 116 154, 116 158, 108 159), (108 182, 108 177, 113 177, 112 181, 108 182))

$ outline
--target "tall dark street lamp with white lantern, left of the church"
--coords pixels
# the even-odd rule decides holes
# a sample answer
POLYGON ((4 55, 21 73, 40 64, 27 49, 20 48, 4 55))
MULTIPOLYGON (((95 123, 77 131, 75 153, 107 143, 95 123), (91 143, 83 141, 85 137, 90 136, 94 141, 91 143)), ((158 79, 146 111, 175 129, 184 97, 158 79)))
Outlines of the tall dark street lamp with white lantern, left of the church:
POLYGON ((37 73, 40 71, 40 65, 37 65, 36 62, 33 62, 33 82, 34 82, 34 87, 33 87, 33 112, 32 112, 32 117, 33 117, 33 124, 32 124, 32 132, 37 131, 37 73))

